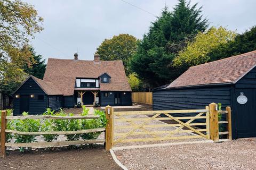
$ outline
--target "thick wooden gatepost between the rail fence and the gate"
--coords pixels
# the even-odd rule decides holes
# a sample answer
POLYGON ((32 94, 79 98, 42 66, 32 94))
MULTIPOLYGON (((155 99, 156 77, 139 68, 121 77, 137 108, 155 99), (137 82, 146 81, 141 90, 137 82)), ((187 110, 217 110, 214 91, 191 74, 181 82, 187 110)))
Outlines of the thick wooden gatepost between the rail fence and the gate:
POLYGON ((114 144, 114 113, 113 113, 113 107, 106 106, 105 108, 105 114, 106 118, 108 120, 107 126, 106 126, 106 133, 105 133, 105 140, 106 140, 106 146, 105 149, 109 151, 113 144, 114 144))

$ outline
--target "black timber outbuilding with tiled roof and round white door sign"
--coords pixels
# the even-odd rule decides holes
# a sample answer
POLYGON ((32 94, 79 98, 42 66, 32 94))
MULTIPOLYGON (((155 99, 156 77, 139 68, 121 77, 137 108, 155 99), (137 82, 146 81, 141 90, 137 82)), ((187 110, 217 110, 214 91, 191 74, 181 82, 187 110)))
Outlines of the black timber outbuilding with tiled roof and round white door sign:
POLYGON ((190 67, 171 84, 153 90, 153 109, 232 110, 233 138, 256 137, 256 50, 190 67))

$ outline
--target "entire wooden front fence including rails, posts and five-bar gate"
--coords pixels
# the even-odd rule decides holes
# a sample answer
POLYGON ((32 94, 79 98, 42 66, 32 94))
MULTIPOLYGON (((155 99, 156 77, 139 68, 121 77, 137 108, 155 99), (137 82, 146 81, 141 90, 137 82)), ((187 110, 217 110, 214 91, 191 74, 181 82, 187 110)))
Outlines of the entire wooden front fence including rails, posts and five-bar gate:
POLYGON ((232 139, 231 132, 231 108, 226 107, 226 111, 218 111, 217 104, 212 103, 206 106, 205 109, 194 110, 172 110, 172 111, 132 111, 132 112, 114 112, 113 107, 106 106, 105 115, 108 120, 106 128, 87 129, 79 131, 46 131, 46 132, 20 132, 6 129, 8 120, 17 119, 84 119, 84 118, 98 118, 98 116, 50 116, 50 115, 28 115, 28 116, 7 116, 6 111, 1 114, 1 155, 6 157, 6 147, 56 147, 67 145, 84 145, 87 143, 105 142, 105 149, 109 151, 116 143, 122 142, 144 142, 144 141, 158 141, 158 140, 178 140, 178 139, 193 139, 205 138, 211 139, 214 142, 219 141, 219 135, 227 134, 229 140, 232 139), (171 114, 190 113, 196 114, 192 116, 173 116, 171 114), (226 121, 219 121, 219 114, 227 114, 226 121), (131 118, 132 115, 139 115, 142 117, 131 118), (151 116, 149 116, 151 115, 151 116), (164 115, 164 116, 161 116, 164 115), (130 117, 125 117, 130 116, 130 117), (152 121, 170 120, 174 124, 148 124, 152 121), (203 122, 195 122, 195 120, 204 120, 203 122), (125 122, 129 125, 114 126, 115 122, 125 122), (142 121, 138 124, 138 121, 142 121), (227 131, 219 132, 219 124, 227 124, 227 131), (202 128, 202 126, 204 128, 202 128), (174 127, 175 130, 157 130, 150 131, 154 128, 174 127), (149 129, 147 129, 149 128, 149 129), (131 129, 128 132, 116 133, 114 129, 131 129), (142 130, 142 131, 138 131, 142 130), (33 142, 33 143, 7 143, 6 133, 14 133, 21 135, 43 135, 43 134, 79 134, 91 132, 105 131, 105 139, 96 140, 77 140, 77 141, 60 141, 60 142, 33 142), (178 133, 193 133, 193 135, 173 136, 178 133), (140 139, 126 139, 130 135, 151 135, 153 138, 140 138, 140 139), (161 136, 167 134, 164 137, 161 136), (159 136, 160 135, 160 136, 159 136), (115 138, 114 138, 115 137, 115 138), (119 138, 117 138, 119 137, 119 138))

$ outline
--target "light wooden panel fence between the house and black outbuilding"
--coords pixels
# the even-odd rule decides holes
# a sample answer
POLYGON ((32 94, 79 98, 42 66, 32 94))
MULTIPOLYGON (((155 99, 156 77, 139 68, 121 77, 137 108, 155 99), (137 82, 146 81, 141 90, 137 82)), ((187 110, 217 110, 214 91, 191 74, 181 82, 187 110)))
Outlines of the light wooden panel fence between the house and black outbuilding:
POLYGON ((132 92, 132 102, 153 104, 153 93, 152 92, 132 92))

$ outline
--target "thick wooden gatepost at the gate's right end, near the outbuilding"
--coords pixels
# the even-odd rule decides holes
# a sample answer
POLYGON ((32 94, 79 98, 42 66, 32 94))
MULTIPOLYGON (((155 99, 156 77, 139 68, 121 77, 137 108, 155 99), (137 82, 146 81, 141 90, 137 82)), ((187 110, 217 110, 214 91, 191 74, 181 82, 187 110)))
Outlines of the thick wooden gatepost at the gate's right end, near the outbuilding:
POLYGON ((214 142, 219 142, 219 117, 218 105, 211 103, 210 107, 210 139, 214 142))

